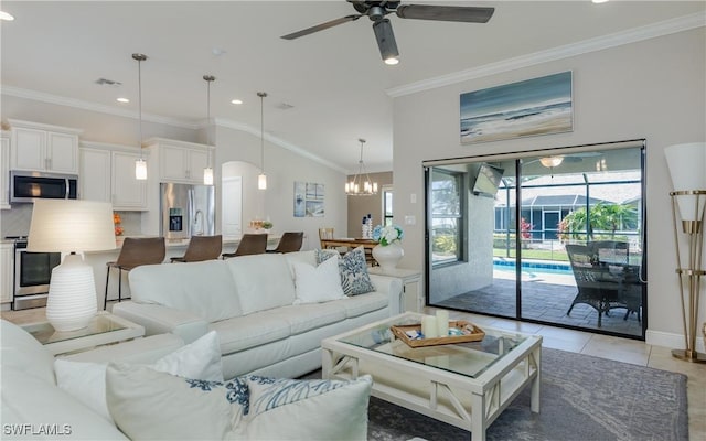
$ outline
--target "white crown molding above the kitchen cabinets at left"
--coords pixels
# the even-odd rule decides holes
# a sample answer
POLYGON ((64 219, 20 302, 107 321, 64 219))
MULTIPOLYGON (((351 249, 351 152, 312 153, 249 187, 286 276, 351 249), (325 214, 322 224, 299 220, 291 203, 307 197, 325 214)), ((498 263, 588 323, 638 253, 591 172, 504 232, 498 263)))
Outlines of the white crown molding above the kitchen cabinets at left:
MULTIPOLYGON (((57 106, 73 107, 81 110, 95 111, 107 115, 115 115, 124 118, 139 119, 139 114, 126 109, 119 109, 111 106, 105 106, 95 103, 88 103, 81 99, 67 98, 64 96, 46 94, 43 92, 23 89, 12 86, 2 86, 2 95, 13 96, 17 98, 32 99, 34 101, 42 101, 47 104, 54 104, 57 106)), ((168 118, 159 115, 142 114, 142 120, 149 122, 161 123, 165 126, 179 127, 183 129, 195 130, 197 125, 176 118, 168 118)))

